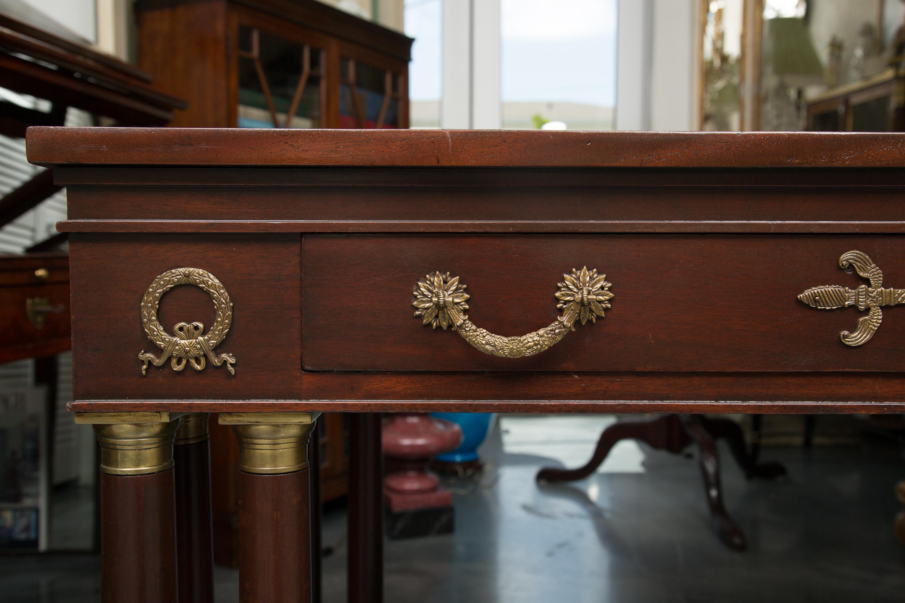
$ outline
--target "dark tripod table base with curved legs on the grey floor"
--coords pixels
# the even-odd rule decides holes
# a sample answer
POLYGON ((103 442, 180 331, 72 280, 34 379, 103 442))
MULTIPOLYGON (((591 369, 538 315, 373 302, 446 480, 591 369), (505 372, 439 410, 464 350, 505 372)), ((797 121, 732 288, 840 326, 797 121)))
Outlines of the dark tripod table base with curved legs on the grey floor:
POLYGON ((729 516, 723 504, 722 485, 719 480, 719 455, 716 442, 724 438, 738 466, 748 479, 771 479, 785 476, 786 468, 778 463, 757 463, 748 451, 744 435, 738 423, 731 419, 710 419, 700 415, 666 415, 646 421, 624 421, 604 429, 597 441, 594 455, 585 466, 577 469, 544 468, 538 471, 538 482, 572 482, 584 479, 595 472, 606 460, 606 455, 623 439, 637 439, 652 448, 681 454, 695 445, 698 450, 700 473, 704 479, 704 495, 710 508, 713 530, 723 544, 735 551, 748 546, 745 532, 729 516))

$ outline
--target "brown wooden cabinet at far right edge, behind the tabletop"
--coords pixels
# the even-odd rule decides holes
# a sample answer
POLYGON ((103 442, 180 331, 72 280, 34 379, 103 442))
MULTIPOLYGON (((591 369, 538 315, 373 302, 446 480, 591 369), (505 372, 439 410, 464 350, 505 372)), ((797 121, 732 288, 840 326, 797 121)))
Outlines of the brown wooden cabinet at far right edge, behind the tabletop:
POLYGON ((826 90, 805 107, 806 129, 812 131, 905 131, 905 70, 889 67, 872 78, 826 90))

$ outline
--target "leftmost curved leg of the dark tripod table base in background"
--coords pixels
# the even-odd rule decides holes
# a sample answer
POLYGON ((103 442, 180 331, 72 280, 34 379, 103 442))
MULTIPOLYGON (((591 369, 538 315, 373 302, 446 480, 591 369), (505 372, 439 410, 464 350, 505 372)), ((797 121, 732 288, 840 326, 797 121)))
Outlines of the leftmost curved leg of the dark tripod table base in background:
POLYGON ((597 448, 594 450, 594 456, 587 461, 585 466, 577 469, 554 469, 545 467, 538 471, 538 482, 574 482, 578 479, 584 479, 595 472, 598 466, 601 466, 606 459, 606 455, 621 439, 639 439, 646 442, 653 448, 669 449, 671 452, 679 452, 684 446, 684 442, 675 442, 678 437, 674 423, 676 419, 674 415, 658 417, 647 421, 624 421, 614 423, 604 432, 600 434, 597 441, 597 448), (678 447, 678 448, 677 448, 678 447), (676 448, 676 449, 673 449, 676 448))

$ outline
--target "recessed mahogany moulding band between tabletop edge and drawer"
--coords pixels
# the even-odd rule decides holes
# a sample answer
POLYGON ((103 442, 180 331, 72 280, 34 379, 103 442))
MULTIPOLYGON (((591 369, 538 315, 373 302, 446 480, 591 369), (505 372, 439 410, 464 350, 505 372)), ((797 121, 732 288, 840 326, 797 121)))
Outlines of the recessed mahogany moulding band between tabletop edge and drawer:
MULTIPOLYGON (((519 170, 525 171, 525 170, 519 170)), ((166 176, 166 174, 161 174, 166 176)), ((451 174, 452 175, 452 174, 451 174)), ((736 231, 905 230, 900 186, 656 186, 604 174, 557 186, 70 185, 61 231, 736 231), (123 197, 133 203, 121 203, 123 197), (794 201, 793 201, 794 200, 794 201)), ((478 182, 481 182, 479 179, 478 182)), ((905 185, 905 183, 902 183, 905 185)))

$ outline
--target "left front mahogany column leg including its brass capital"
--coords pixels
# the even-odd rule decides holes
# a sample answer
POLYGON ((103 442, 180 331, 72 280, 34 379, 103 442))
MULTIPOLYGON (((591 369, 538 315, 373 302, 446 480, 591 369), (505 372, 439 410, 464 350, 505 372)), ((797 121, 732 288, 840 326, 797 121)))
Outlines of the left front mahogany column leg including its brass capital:
POLYGON ((176 603, 173 437, 169 423, 101 424, 100 599, 176 603))

